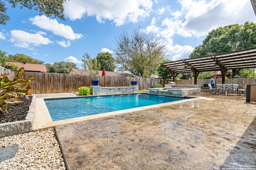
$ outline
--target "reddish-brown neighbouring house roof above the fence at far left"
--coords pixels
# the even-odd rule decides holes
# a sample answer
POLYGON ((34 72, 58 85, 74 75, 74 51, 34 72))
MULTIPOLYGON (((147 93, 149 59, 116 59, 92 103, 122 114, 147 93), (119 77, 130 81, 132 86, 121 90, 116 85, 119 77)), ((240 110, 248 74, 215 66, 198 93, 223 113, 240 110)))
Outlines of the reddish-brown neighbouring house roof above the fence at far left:
POLYGON ((12 64, 16 64, 16 66, 19 66, 17 70, 19 70, 21 67, 24 67, 24 71, 30 71, 30 72, 46 72, 46 66, 44 64, 30 64, 30 63, 16 63, 16 62, 6 62, 6 68, 10 68, 12 64))

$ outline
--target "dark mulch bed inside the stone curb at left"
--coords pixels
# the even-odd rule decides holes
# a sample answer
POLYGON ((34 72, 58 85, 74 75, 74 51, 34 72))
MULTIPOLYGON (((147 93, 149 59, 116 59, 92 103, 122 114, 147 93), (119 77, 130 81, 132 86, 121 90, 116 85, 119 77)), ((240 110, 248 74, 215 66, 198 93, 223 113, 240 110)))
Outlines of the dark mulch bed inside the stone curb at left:
POLYGON ((8 109, 8 112, 5 111, 5 106, 0 107, 3 110, 3 115, 0 114, 0 123, 8 123, 13 121, 25 120, 30 103, 32 101, 32 96, 28 96, 30 100, 25 97, 21 97, 21 103, 12 104, 8 109))

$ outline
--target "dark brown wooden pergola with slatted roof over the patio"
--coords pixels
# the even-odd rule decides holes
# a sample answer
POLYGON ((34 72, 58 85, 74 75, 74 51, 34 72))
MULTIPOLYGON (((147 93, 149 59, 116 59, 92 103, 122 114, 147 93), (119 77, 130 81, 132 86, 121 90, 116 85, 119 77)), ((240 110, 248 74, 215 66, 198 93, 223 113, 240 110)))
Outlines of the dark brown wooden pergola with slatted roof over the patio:
POLYGON ((175 81, 179 73, 192 72, 194 74, 194 84, 197 84, 200 72, 220 70, 222 73, 222 84, 225 84, 228 70, 256 68, 256 47, 160 64, 170 70, 173 81, 175 81))

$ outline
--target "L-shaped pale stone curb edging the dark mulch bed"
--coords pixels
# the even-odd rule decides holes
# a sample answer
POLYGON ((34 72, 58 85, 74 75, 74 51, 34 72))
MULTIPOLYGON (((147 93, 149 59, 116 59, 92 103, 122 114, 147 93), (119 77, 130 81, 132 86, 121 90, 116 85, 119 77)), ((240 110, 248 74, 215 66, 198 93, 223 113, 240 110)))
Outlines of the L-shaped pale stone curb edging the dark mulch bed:
POLYGON ((27 133, 27 132, 33 131, 35 104, 36 104, 36 96, 33 96, 31 104, 29 106, 28 114, 25 120, 1 123, 0 137, 6 137, 10 135, 17 135, 20 133, 27 133))

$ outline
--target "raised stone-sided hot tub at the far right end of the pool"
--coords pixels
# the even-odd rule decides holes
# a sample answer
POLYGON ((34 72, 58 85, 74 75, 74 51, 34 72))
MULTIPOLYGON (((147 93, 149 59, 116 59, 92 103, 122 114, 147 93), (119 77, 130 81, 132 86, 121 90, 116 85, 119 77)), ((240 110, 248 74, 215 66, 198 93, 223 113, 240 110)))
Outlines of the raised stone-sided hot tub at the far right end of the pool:
POLYGON ((151 94, 163 94, 181 97, 200 94, 200 92, 200 88, 149 88, 149 93, 151 94))

